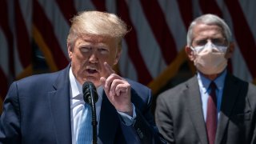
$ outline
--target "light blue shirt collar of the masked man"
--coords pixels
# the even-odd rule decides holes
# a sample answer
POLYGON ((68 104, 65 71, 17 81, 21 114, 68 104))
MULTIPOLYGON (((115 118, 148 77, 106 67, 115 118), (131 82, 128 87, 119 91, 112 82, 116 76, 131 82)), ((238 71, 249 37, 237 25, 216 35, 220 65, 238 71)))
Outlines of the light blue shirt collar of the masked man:
MULTIPOLYGON (((227 70, 225 69, 222 74, 220 74, 217 78, 214 79, 215 85, 217 86, 218 90, 222 90, 224 87, 224 82, 226 78, 227 70)), ((198 72, 198 83, 199 86, 202 87, 202 92, 206 93, 210 86, 211 80, 206 78, 203 74, 198 72)))

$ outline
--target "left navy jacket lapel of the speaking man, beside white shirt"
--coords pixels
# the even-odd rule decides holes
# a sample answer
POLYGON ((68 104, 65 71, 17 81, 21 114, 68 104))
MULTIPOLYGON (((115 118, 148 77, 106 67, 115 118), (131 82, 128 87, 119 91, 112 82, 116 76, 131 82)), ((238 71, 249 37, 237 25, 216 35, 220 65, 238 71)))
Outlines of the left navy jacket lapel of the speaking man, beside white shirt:
POLYGON ((70 123, 70 79, 68 66, 58 74, 54 90, 48 93, 57 143, 72 143, 70 123))

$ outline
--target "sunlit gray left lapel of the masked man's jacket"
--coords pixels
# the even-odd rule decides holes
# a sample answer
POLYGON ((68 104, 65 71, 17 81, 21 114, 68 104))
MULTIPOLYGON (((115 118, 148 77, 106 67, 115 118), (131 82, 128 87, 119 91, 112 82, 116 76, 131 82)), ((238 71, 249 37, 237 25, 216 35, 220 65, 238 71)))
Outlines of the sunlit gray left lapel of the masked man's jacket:
POLYGON ((194 124, 194 129, 198 133, 201 143, 208 143, 206 124, 202 113, 202 100, 200 97, 198 80, 196 76, 187 82, 187 90, 185 91, 187 110, 190 114, 191 121, 194 124))

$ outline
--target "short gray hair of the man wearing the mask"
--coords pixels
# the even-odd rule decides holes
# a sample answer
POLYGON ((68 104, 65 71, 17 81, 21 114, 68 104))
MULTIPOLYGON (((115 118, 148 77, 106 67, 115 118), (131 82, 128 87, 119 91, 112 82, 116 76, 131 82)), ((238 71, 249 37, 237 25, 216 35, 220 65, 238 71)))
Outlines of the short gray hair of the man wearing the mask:
POLYGON ((214 14, 204 14, 196 19, 194 19, 193 22, 190 23, 189 30, 186 35, 186 43, 188 46, 191 46, 192 40, 193 40, 193 29, 194 26, 198 24, 206 24, 206 25, 216 25, 220 26, 222 28, 224 37, 226 38, 227 42, 231 42, 231 31, 230 27, 227 26, 226 22, 222 18, 219 18, 217 15, 214 14))

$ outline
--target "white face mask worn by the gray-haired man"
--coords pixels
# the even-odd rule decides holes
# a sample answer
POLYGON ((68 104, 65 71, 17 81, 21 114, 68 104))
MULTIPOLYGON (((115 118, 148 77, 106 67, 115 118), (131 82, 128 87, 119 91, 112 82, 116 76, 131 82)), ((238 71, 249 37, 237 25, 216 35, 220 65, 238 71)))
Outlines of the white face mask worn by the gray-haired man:
POLYGON ((194 66, 202 74, 219 74, 227 65, 227 46, 216 46, 207 42, 205 46, 190 47, 194 51, 194 66))

